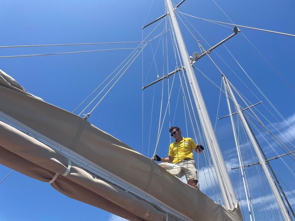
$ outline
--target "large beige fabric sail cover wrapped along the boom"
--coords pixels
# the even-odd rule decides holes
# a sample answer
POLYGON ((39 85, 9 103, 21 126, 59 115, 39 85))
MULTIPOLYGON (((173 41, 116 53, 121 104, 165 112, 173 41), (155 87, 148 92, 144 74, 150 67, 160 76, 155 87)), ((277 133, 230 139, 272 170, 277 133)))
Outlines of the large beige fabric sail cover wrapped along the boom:
MULTIPOLYGON (((24 124, 48 141, 62 145, 191 220, 242 220, 238 205, 232 211, 225 210, 200 190, 183 183, 149 158, 93 126, 86 118, 7 85, 11 84, 0 78, 0 116, 24 124)), ((69 164, 68 158, 60 152, 3 122, 0 122, 0 163, 43 182, 52 180, 56 173, 64 174, 69 164)), ((51 184, 59 192, 128 220, 166 220, 165 211, 155 204, 95 176, 74 162, 71 164, 68 175, 58 175, 51 184)), ((181 219, 169 214, 168 220, 181 219)))

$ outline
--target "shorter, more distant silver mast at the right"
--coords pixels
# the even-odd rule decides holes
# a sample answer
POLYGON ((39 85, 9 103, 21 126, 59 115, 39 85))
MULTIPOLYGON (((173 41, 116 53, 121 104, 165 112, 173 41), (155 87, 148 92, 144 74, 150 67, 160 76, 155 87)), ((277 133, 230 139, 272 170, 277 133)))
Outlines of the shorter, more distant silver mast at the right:
MULTIPOLYGON (((245 127, 245 130, 246 130, 246 132, 247 132, 247 134, 248 134, 248 136, 250 138, 251 144, 253 145, 253 148, 254 148, 257 156, 258 156, 258 159, 259 159, 259 162, 260 162, 260 164, 262 166, 262 169, 263 169, 264 173, 266 174, 269 185, 271 186, 271 190, 273 192, 273 195, 276 198, 278 206, 280 207, 282 215, 283 215, 283 217, 284 217, 284 219, 286 221, 291 221, 292 218, 289 215, 286 204, 283 201, 283 198, 281 197, 281 194, 279 193, 278 188, 276 187, 276 183, 274 182, 274 180, 273 180, 273 178, 271 176, 271 173, 269 172, 269 170, 267 168, 266 161, 263 159, 262 154, 261 154, 261 152, 259 150, 258 141, 257 141, 252 129, 250 128, 250 125, 248 124, 248 121, 246 120, 244 114, 242 113, 242 110, 240 109, 239 104, 237 103, 237 100, 235 98, 235 95, 232 92, 232 89, 231 89, 230 84, 229 84, 229 82, 227 80, 227 77, 225 77, 224 75, 222 77, 223 77, 223 80, 224 80, 224 83, 225 83, 224 87, 226 87, 228 89, 228 92, 229 92, 230 97, 232 98, 232 101, 233 101, 233 103, 234 103, 234 105, 236 107, 236 110, 237 110, 237 113, 238 113, 238 115, 240 117, 240 120, 241 120, 242 124, 245 127)), ((227 97, 227 99, 228 99, 228 97, 227 97)))

